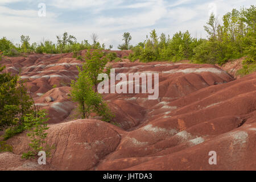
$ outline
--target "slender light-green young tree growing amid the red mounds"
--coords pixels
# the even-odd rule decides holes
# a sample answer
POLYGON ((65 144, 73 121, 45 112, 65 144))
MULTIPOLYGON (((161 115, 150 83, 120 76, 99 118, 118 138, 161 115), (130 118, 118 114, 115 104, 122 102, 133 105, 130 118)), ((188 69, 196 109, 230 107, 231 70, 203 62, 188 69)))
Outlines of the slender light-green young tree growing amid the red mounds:
MULTIPOLYGON (((96 92, 98 82, 98 75, 105 73, 107 57, 115 54, 108 54, 104 56, 104 52, 100 50, 88 50, 85 55, 85 62, 82 63, 82 68, 79 70, 79 77, 77 80, 72 80, 71 97, 72 100, 79 104, 78 110, 82 114, 82 118, 89 118, 91 113, 100 115, 104 121, 110 122, 113 114, 101 95, 96 92), (95 92, 93 90, 95 87, 95 92)), ((108 69, 107 71, 108 72, 108 69)))

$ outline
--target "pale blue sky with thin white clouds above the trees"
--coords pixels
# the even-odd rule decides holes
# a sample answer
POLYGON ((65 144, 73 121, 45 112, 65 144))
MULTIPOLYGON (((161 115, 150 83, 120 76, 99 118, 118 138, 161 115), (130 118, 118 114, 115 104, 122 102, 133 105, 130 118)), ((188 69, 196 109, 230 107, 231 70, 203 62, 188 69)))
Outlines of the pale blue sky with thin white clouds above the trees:
POLYGON ((20 35, 29 35, 31 43, 56 42, 56 35, 68 32, 78 42, 92 43, 90 35, 95 33, 101 44, 114 49, 122 43, 123 32, 130 32, 133 45, 143 42, 153 29, 158 35, 188 30, 193 37, 206 38, 203 26, 210 13, 221 22, 232 9, 250 5, 255 1, 0 0, 0 38, 16 44, 20 35))

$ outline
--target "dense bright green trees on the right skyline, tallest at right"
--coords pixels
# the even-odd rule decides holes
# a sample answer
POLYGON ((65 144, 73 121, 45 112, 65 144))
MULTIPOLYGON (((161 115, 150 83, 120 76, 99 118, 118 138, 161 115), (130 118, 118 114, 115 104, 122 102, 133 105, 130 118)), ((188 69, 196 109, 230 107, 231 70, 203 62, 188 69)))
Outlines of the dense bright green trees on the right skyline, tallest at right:
POLYGON ((193 63, 220 65, 242 56, 255 60, 255 21, 256 9, 251 6, 226 13, 222 18, 223 24, 211 14, 204 26, 208 39, 192 38, 188 31, 177 32, 170 38, 163 33, 158 36, 152 30, 144 42, 133 47, 129 59, 143 62, 188 59, 193 63))

